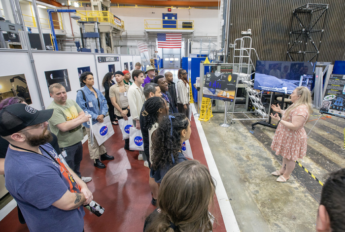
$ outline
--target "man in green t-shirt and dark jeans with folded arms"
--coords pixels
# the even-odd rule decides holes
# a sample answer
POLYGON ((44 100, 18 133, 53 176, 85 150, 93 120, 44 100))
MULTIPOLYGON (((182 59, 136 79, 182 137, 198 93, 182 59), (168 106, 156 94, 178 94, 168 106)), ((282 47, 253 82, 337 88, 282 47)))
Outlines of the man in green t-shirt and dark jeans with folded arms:
POLYGON ((54 100, 47 107, 54 109, 52 117, 48 120, 52 133, 58 137, 62 154, 69 167, 84 181, 91 181, 91 177, 81 177, 79 168, 83 159, 84 138, 81 124, 89 121, 91 116, 86 116, 84 111, 72 99, 67 99, 66 89, 59 83, 49 86, 49 94, 54 100))

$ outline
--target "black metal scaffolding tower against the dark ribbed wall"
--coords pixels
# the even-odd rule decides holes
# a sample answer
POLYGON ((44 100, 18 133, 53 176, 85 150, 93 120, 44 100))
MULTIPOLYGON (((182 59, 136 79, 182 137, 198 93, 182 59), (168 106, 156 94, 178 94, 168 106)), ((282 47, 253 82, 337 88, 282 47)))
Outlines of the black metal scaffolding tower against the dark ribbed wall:
POLYGON ((317 61, 326 25, 327 9, 328 4, 308 3, 293 10, 287 60, 317 61))

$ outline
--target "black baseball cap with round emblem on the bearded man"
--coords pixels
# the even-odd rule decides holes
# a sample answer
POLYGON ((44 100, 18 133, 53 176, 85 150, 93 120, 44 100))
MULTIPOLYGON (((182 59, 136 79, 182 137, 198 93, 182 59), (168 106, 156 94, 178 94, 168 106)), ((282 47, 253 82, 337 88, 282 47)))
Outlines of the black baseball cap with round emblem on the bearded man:
POLYGON ((26 127, 48 121, 53 109, 36 110, 27 104, 12 104, 0 110, 0 135, 17 133, 26 127))

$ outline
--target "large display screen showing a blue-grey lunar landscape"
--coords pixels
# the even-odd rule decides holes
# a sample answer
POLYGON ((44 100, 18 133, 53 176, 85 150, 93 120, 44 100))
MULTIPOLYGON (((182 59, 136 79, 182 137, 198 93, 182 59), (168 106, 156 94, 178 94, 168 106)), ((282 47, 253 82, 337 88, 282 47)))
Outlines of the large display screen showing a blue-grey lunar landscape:
POLYGON ((254 89, 292 94, 298 86, 312 83, 315 63, 256 61, 254 89))

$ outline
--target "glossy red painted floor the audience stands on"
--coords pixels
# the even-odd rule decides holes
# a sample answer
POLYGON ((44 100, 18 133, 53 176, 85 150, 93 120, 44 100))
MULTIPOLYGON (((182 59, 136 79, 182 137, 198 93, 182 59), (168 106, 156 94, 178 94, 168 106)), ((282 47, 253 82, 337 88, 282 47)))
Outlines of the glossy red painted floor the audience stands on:
MULTIPOLYGON (((191 123, 190 144, 194 159, 207 165, 194 119, 191 123)), ((114 156, 115 160, 104 161, 106 168, 94 167, 89 158, 87 142, 83 145, 81 174, 93 178, 87 185, 94 200, 105 208, 101 217, 85 210, 85 232, 142 232, 145 217, 155 209, 151 204, 148 185, 149 169, 143 166, 143 161, 138 161, 138 151, 124 150, 121 131, 118 126, 113 128, 115 134, 105 142, 105 147, 108 155, 114 156)), ((26 225, 19 223, 17 213, 15 208, 0 221, 1 232, 29 231, 26 225)), ((214 232, 225 232, 216 197, 212 214, 216 218, 214 232)))

